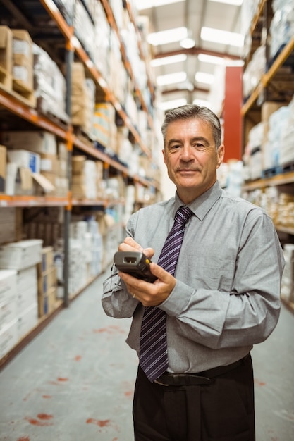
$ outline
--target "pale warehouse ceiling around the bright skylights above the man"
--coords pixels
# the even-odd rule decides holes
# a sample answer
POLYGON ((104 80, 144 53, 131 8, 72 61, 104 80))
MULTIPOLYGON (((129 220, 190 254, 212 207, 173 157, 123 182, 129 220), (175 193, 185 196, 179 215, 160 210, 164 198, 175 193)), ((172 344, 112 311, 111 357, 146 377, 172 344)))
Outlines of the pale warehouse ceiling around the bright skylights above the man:
MULTIPOLYGON (((142 4, 142 0, 137 0, 137 5, 140 4, 140 1, 142 4)), ((152 2, 149 1, 150 3, 152 2)), ((200 37, 203 26, 239 33, 241 6, 233 6, 212 0, 185 0, 144 10, 138 9, 137 14, 148 18, 150 32, 187 27, 192 39, 195 40, 195 46, 191 49, 183 49, 180 42, 152 46, 154 58, 173 54, 187 54, 185 61, 154 68, 155 77, 179 71, 184 71, 187 74, 187 80, 184 82, 161 87, 162 101, 184 98, 188 103, 192 103, 195 99, 209 99, 211 86, 196 81, 195 73, 209 73, 215 77, 219 67, 216 64, 200 61, 198 54, 221 56, 226 58, 227 61, 228 58, 239 59, 240 61, 240 56, 243 55, 242 48, 233 46, 233 44, 206 42, 200 37)), ((233 43, 233 39, 231 41, 233 43)))

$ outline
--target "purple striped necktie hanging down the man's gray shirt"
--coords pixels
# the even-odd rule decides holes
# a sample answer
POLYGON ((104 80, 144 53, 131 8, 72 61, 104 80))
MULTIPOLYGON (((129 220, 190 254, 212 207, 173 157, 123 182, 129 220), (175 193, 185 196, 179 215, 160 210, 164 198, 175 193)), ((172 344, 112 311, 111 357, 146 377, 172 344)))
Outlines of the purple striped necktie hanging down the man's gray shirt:
MULTIPOLYGON (((173 228, 166 237, 158 265, 172 275, 175 273, 185 224, 192 216, 188 206, 180 206, 176 212, 173 228)), ((168 366, 166 343, 166 313, 157 306, 147 306, 142 319, 140 335, 140 366, 151 382, 156 380, 168 366)))

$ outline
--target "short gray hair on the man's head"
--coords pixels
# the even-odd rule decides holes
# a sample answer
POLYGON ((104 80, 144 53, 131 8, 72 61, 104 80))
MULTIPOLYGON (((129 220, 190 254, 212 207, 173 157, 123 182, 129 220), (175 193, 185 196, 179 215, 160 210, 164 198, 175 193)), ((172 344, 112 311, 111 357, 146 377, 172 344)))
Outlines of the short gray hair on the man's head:
POLYGON ((221 145, 221 123, 216 114, 207 107, 200 107, 197 104, 185 104, 171 109, 166 113, 164 123, 161 125, 161 133, 164 136, 164 146, 166 144, 166 131, 169 124, 177 120, 188 120, 198 118, 205 121, 212 128, 212 135, 216 144, 216 149, 221 145))

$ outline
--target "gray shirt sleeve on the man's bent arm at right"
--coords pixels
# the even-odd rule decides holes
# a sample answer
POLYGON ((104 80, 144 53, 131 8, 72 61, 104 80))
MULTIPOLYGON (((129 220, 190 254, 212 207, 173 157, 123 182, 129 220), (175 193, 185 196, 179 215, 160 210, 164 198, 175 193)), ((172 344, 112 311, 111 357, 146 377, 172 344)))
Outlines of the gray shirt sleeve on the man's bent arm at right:
POLYGON ((212 349, 262 342, 278 321, 283 266, 274 225, 262 214, 243 229, 231 292, 177 280, 161 309, 176 318, 178 334, 212 349))

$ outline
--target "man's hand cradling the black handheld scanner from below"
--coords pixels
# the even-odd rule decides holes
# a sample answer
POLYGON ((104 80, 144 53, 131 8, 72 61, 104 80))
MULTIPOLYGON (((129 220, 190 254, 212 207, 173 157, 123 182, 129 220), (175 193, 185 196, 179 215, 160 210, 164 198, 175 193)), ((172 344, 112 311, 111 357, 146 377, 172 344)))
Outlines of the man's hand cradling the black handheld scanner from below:
MULTIPOLYGON (((128 250, 129 248, 121 249, 121 251, 128 250)), ((139 249, 137 248, 137 250, 139 249)), ((125 282, 128 292, 133 297, 135 296, 144 306, 158 306, 171 294, 176 286, 176 278, 154 262, 150 263, 150 271, 157 277, 154 283, 145 282, 145 280, 137 279, 133 275, 121 273, 121 271, 119 271, 118 275, 125 282)))

